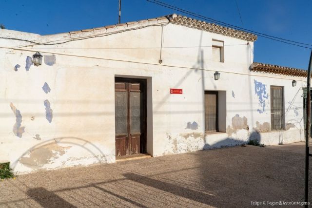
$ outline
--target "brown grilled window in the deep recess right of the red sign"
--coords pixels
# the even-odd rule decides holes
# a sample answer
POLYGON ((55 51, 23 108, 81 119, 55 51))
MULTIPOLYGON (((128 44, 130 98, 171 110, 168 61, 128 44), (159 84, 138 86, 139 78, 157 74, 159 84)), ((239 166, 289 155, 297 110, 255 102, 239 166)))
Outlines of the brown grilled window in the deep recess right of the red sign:
POLYGON ((205 91, 205 131, 218 132, 218 92, 205 91))

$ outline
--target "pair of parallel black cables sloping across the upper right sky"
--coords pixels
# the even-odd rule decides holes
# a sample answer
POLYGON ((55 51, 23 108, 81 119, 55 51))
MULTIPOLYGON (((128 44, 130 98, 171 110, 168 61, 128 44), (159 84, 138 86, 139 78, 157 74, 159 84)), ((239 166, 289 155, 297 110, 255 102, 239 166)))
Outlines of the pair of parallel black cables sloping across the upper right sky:
POLYGON ((289 39, 285 39, 285 38, 279 38, 279 37, 267 35, 267 34, 264 34, 264 33, 256 32, 256 31, 253 31, 253 30, 249 30, 249 29, 246 29, 246 28, 242 28, 242 27, 239 27, 239 26, 236 26, 236 25, 233 25, 233 24, 229 24, 229 23, 226 23, 226 22, 223 22, 223 21, 219 21, 219 20, 216 20, 216 19, 212 19, 212 18, 203 16, 203 15, 200 15, 200 14, 188 11, 188 10, 185 10, 185 9, 181 9, 179 7, 176 7, 176 6, 164 3, 164 2, 159 1, 159 0, 147 0, 147 1, 151 2, 151 3, 155 3, 155 4, 163 6, 163 7, 166 7, 166 8, 169 8, 169 9, 173 9, 173 10, 182 12, 184 14, 191 15, 191 16, 196 17, 196 18, 205 19, 205 20, 208 20, 208 21, 214 21, 214 22, 216 22, 216 23, 218 23, 218 24, 220 24, 222 26, 225 26, 225 27, 232 27, 232 28, 234 28, 236 30, 241 30, 241 31, 244 31, 244 32, 253 33, 253 34, 255 34, 257 36, 260 36, 260 37, 263 37, 263 38, 269 38, 269 39, 272 39, 272 40, 275 40, 275 41, 279 41, 279 42, 283 42, 283 43, 287 43, 287 44, 290 44, 290 45, 295 45, 295 46, 299 46, 299 47, 302 47, 302 48, 312 49, 311 47, 303 46, 303 45, 312 46, 312 44, 298 42, 298 41, 289 40, 289 39), (301 44, 301 45, 298 45, 298 44, 301 44))

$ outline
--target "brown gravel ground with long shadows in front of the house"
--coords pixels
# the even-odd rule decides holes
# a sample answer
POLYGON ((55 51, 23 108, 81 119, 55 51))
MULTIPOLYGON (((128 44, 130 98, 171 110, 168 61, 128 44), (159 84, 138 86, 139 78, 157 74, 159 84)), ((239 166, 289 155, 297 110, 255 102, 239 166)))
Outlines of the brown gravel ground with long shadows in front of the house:
POLYGON ((37 172, 0 181, 0 207, 241 208, 302 202, 304 156, 304 143, 246 145, 37 172))

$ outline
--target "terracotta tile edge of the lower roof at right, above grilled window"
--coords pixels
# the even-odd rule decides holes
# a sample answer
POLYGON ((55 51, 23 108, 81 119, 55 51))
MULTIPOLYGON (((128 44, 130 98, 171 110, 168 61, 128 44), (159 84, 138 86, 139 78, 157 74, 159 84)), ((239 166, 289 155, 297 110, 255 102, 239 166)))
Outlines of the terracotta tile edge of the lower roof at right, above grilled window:
POLYGON ((277 75, 286 75, 286 76, 308 76, 308 71, 303 69, 296 69, 284 66, 277 66, 273 64, 266 63, 257 63, 254 62, 250 68, 250 71, 253 72, 263 72, 277 75))

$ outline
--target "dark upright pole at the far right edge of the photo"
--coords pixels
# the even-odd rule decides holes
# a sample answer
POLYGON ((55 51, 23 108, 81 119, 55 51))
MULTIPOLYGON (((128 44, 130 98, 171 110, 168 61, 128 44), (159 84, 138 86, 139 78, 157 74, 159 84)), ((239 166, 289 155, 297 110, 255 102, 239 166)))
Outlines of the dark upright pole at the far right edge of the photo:
MULTIPOLYGON (((307 116, 306 116, 306 169, 305 169, 305 184, 304 184, 304 201, 306 203, 309 202, 309 142, 310 142, 310 128, 311 128, 311 90, 310 90, 310 82, 311 82, 311 68, 312 68, 312 51, 309 61, 309 68, 308 68, 308 77, 307 77, 307 116)), ((308 205, 305 205, 308 208, 308 205)))

